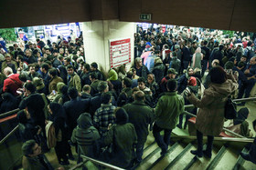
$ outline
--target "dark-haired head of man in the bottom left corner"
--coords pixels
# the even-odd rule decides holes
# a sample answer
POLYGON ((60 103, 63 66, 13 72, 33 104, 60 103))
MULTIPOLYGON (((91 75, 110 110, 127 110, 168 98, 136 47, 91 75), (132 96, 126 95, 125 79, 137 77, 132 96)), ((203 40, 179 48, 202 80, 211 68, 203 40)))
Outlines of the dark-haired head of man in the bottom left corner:
POLYGON ((35 140, 28 140, 22 145, 22 153, 29 157, 35 157, 41 154, 41 147, 35 140))

